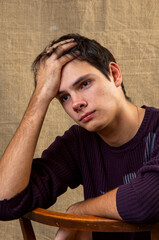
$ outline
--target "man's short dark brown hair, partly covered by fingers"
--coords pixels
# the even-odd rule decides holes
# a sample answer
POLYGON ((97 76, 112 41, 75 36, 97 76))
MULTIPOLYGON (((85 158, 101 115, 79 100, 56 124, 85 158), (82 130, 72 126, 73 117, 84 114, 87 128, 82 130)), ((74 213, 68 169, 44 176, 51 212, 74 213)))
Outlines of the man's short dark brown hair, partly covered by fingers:
MULTIPOLYGON (((103 47, 97 41, 88 39, 79 34, 67 34, 67 35, 61 36, 57 40, 53 40, 50 43, 50 45, 48 45, 44 49, 44 51, 40 55, 38 55, 37 58, 35 59, 35 61, 33 62, 32 67, 33 67, 33 71, 35 74, 35 78, 36 78, 37 65, 38 65, 40 59, 43 56, 49 57, 52 54, 52 52, 48 53, 47 50, 50 47, 52 47, 55 43, 61 42, 66 39, 72 39, 72 38, 75 40, 77 45, 75 47, 63 52, 62 55, 69 53, 69 54, 77 57, 76 51, 79 51, 80 54, 78 55, 78 60, 88 62, 89 64, 91 64, 92 66, 97 68, 100 72, 102 72, 106 76, 106 78, 109 80, 109 74, 110 74, 109 63, 110 62, 116 63, 114 56, 111 54, 111 52, 107 48, 103 47)), ((122 90, 124 92, 126 99, 130 100, 129 97, 127 97, 127 95, 126 95, 126 91, 125 91, 123 82, 121 84, 121 87, 122 87, 122 90)))

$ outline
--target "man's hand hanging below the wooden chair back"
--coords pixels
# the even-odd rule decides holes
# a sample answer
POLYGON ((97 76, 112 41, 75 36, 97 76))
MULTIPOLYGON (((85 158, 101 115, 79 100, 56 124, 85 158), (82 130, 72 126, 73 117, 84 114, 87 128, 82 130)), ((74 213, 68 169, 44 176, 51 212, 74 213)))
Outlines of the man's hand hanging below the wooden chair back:
POLYGON ((60 228, 55 240, 92 240, 92 232, 72 231, 60 228))

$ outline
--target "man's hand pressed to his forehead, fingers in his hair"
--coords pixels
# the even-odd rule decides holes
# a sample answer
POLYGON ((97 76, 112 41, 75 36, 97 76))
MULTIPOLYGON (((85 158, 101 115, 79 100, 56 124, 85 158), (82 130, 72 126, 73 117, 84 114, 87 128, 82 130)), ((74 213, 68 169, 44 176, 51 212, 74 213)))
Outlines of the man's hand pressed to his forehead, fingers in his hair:
POLYGON ((36 92, 44 93, 45 98, 48 97, 50 100, 57 95, 62 67, 74 59, 74 56, 70 54, 61 55, 76 44, 73 39, 69 39, 54 44, 48 49, 47 54, 51 53, 51 56, 44 55, 37 67, 36 92))

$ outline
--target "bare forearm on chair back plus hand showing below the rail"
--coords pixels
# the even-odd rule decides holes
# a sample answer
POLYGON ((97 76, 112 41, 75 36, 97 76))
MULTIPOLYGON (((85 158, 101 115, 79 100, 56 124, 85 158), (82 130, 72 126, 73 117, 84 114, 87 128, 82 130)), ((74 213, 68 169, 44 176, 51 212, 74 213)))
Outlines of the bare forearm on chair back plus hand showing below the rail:
MULTIPOLYGON (((105 193, 99 197, 78 202, 70 206, 67 213, 94 215, 105 218, 113 218, 121 220, 116 208, 116 192, 117 188, 105 193)), ((91 232, 79 232, 66 229, 60 229, 55 240, 91 240, 91 232)))

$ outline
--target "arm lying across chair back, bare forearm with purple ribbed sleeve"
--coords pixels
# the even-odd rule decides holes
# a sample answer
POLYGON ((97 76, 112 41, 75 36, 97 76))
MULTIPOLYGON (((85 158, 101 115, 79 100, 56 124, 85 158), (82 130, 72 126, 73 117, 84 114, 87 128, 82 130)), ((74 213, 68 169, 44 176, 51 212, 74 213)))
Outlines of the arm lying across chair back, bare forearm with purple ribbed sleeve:
POLYGON ((155 156, 137 178, 99 197, 72 205, 68 213, 95 215, 128 223, 159 221, 159 159, 155 156))

